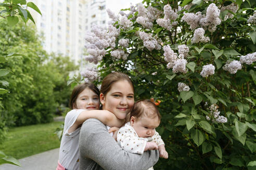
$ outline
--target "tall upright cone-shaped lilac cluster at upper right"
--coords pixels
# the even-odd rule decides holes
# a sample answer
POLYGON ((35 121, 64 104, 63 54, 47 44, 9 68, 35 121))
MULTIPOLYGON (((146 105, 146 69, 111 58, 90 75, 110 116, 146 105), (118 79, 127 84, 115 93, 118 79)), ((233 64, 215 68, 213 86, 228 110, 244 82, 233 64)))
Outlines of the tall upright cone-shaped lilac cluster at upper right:
POLYGON ((214 32, 216 26, 221 24, 220 9, 214 3, 210 4, 207 8, 206 15, 202 16, 199 23, 204 30, 208 29, 210 32, 214 32))

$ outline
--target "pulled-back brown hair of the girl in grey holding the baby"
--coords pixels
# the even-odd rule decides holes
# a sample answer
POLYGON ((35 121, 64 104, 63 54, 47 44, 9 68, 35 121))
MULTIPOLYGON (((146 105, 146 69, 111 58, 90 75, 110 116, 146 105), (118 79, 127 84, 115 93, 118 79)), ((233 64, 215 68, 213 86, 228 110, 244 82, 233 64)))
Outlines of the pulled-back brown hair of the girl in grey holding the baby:
POLYGON ((131 84, 134 90, 133 82, 126 74, 120 73, 120 72, 112 72, 103 79, 103 82, 100 88, 100 93, 103 93, 104 95, 106 95, 112 88, 113 83, 120 80, 127 80, 131 84))

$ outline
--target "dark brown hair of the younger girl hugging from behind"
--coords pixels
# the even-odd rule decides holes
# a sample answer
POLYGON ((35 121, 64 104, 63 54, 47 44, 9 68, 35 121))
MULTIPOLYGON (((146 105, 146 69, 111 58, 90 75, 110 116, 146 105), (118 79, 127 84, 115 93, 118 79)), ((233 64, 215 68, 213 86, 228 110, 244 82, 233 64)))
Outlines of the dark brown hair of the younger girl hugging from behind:
POLYGON ((76 98, 78 98, 78 95, 84 91, 84 89, 89 88, 91 89, 94 93, 97 94, 97 96, 99 96, 99 89, 93 84, 93 83, 83 83, 83 84, 79 84, 78 86, 74 87, 71 96, 70 96, 70 100, 69 100, 69 107, 71 109, 74 109, 73 106, 76 106, 75 101, 76 98))

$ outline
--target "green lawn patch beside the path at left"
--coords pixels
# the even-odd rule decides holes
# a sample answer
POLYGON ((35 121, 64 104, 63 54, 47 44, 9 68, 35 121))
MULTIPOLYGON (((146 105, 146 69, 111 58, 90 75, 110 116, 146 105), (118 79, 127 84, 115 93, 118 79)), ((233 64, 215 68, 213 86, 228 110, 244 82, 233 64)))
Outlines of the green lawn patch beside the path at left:
POLYGON ((21 159, 58 148, 60 141, 54 132, 62 123, 52 122, 9 129, 0 150, 6 155, 21 159))

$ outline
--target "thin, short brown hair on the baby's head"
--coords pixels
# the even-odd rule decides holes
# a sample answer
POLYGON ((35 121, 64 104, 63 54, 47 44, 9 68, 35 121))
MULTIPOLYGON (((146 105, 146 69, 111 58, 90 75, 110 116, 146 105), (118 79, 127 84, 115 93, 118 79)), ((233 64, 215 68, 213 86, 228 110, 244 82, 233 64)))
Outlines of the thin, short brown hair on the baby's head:
POLYGON ((161 120, 161 115, 157 109, 157 106, 150 100, 137 101, 131 111, 130 119, 132 118, 132 116, 140 119, 144 114, 150 118, 158 117, 159 121, 161 120))

